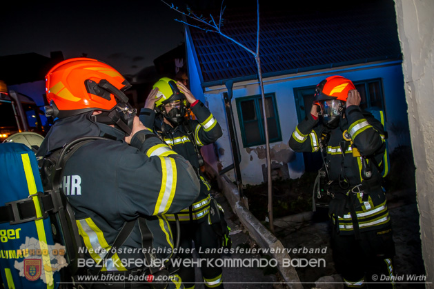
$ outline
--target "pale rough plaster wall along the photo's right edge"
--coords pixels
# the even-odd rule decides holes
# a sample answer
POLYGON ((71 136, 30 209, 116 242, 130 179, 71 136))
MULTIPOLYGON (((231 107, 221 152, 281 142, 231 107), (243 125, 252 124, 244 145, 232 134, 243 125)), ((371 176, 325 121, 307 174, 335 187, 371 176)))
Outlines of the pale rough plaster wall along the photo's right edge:
POLYGON ((404 88, 416 166, 422 255, 434 288, 434 1, 395 0, 404 54, 404 88))

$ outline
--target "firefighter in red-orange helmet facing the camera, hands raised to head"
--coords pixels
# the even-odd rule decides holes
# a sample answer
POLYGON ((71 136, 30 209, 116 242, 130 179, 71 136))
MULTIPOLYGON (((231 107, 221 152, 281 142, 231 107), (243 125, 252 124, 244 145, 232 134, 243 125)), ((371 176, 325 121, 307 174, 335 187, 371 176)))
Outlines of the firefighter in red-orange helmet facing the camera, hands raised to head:
POLYGON ((333 259, 345 286, 394 287, 395 245, 382 187, 386 149, 382 123, 359 108, 359 92, 345 77, 332 76, 315 89, 312 109, 295 128, 289 146, 296 152, 319 152, 318 178, 329 198, 333 223, 333 259))

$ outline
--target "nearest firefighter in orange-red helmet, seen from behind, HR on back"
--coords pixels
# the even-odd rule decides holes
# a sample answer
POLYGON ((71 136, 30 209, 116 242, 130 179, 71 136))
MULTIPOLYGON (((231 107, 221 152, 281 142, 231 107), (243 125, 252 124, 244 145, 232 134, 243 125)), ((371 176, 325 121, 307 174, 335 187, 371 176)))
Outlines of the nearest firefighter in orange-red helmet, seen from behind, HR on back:
MULTIPOLYGON (((131 288, 128 280, 169 275, 167 263, 153 268, 143 261, 170 259, 173 239, 165 214, 189 206, 199 195, 193 167, 135 115, 124 94, 129 86, 117 70, 88 58, 62 61, 46 75, 46 114, 55 117, 55 123, 37 152, 43 158, 43 183, 52 181, 45 172, 61 148, 81 137, 94 139, 67 152, 73 154, 63 166, 61 184, 86 246, 83 269, 101 277, 92 288, 131 288), (131 223, 125 240, 104 260, 119 232, 131 223), (162 250, 154 254, 154 247, 162 250)), ((179 288, 180 279, 172 276, 169 287, 179 288)))

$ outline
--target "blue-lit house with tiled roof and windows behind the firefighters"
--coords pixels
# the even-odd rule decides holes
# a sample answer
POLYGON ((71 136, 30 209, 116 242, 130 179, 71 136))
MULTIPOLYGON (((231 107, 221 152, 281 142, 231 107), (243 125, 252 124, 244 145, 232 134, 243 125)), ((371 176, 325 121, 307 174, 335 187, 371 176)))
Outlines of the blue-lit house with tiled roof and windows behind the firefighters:
MULTIPOLYGON (((395 14, 391 3, 385 3, 332 15, 315 12, 314 21, 306 21, 313 17, 299 11, 292 17, 273 10, 263 13, 260 57, 273 177, 296 179, 320 166, 318 154, 293 152, 288 140, 310 112, 315 86, 331 75, 355 83, 362 108, 384 111, 389 151, 410 144, 395 14)), ((228 33, 254 48, 256 12, 225 13, 228 33)), ((190 26, 186 51, 190 89, 224 130, 217 143, 202 149, 204 157, 217 172, 230 167, 235 141, 242 182, 266 181, 262 98, 253 56, 219 34, 190 26), (230 127, 235 128, 235 140, 230 127)), ((233 170, 226 175, 235 180, 233 170)))

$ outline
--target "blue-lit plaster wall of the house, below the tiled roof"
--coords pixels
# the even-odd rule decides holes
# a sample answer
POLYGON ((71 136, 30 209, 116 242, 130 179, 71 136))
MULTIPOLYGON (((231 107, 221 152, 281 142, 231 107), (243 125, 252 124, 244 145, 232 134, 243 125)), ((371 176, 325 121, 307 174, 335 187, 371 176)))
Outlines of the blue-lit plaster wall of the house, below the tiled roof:
MULTIPOLYGON (((306 74, 290 74, 283 77, 273 77, 264 79, 265 93, 275 93, 277 111, 279 114, 280 127, 282 132, 282 141, 270 143, 272 152, 271 160, 281 165, 288 166, 288 172, 291 179, 297 179, 304 173, 304 160, 301 152, 293 152, 288 146, 288 140, 297 126, 297 112, 294 100, 294 88, 304 86, 315 86, 328 76, 339 74, 353 81, 381 78, 386 95, 386 117, 387 123, 403 123, 402 119, 406 115, 406 106, 404 99, 404 90, 402 81, 402 68, 400 61, 371 63, 365 66, 348 66, 345 68, 335 68, 330 70, 321 70, 309 72, 306 74), (287 163, 287 164, 286 164, 287 163)), ((223 130, 221 137, 216 145, 219 150, 219 165, 225 168, 233 163, 230 139, 228 134, 228 124, 226 122, 226 112, 224 111, 223 92, 226 92, 223 86, 208 88, 204 93, 206 102, 214 117, 219 121, 223 130)), ((244 184, 258 184, 264 182, 262 166, 266 164, 265 145, 244 148, 237 114, 235 99, 257 95, 259 85, 257 81, 244 81, 235 83, 233 86, 233 114, 235 127, 238 135, 239 148, 241 152, 241 177, 244 184)), ((406 121, 405 121, 406 122, 406 121)), ((386 125, 387 125, 386 123, 386 125)), ((408 134, 408 131, 406 131, 408 134)), ((408 139, 408 138, 407 138, 408 139)), ((397 146, 397 137, 393 132, 389 132, 389 149, 393 150, 397 146), (393 146, 391 146, 391 144, 393 146)), ((409 141, 408 141, 409 143, 409 141)), ((217 170, 218 171, 218 170, 217 170)), ((232 180, 235 180, 233 170, 226 173, 232 180)))

